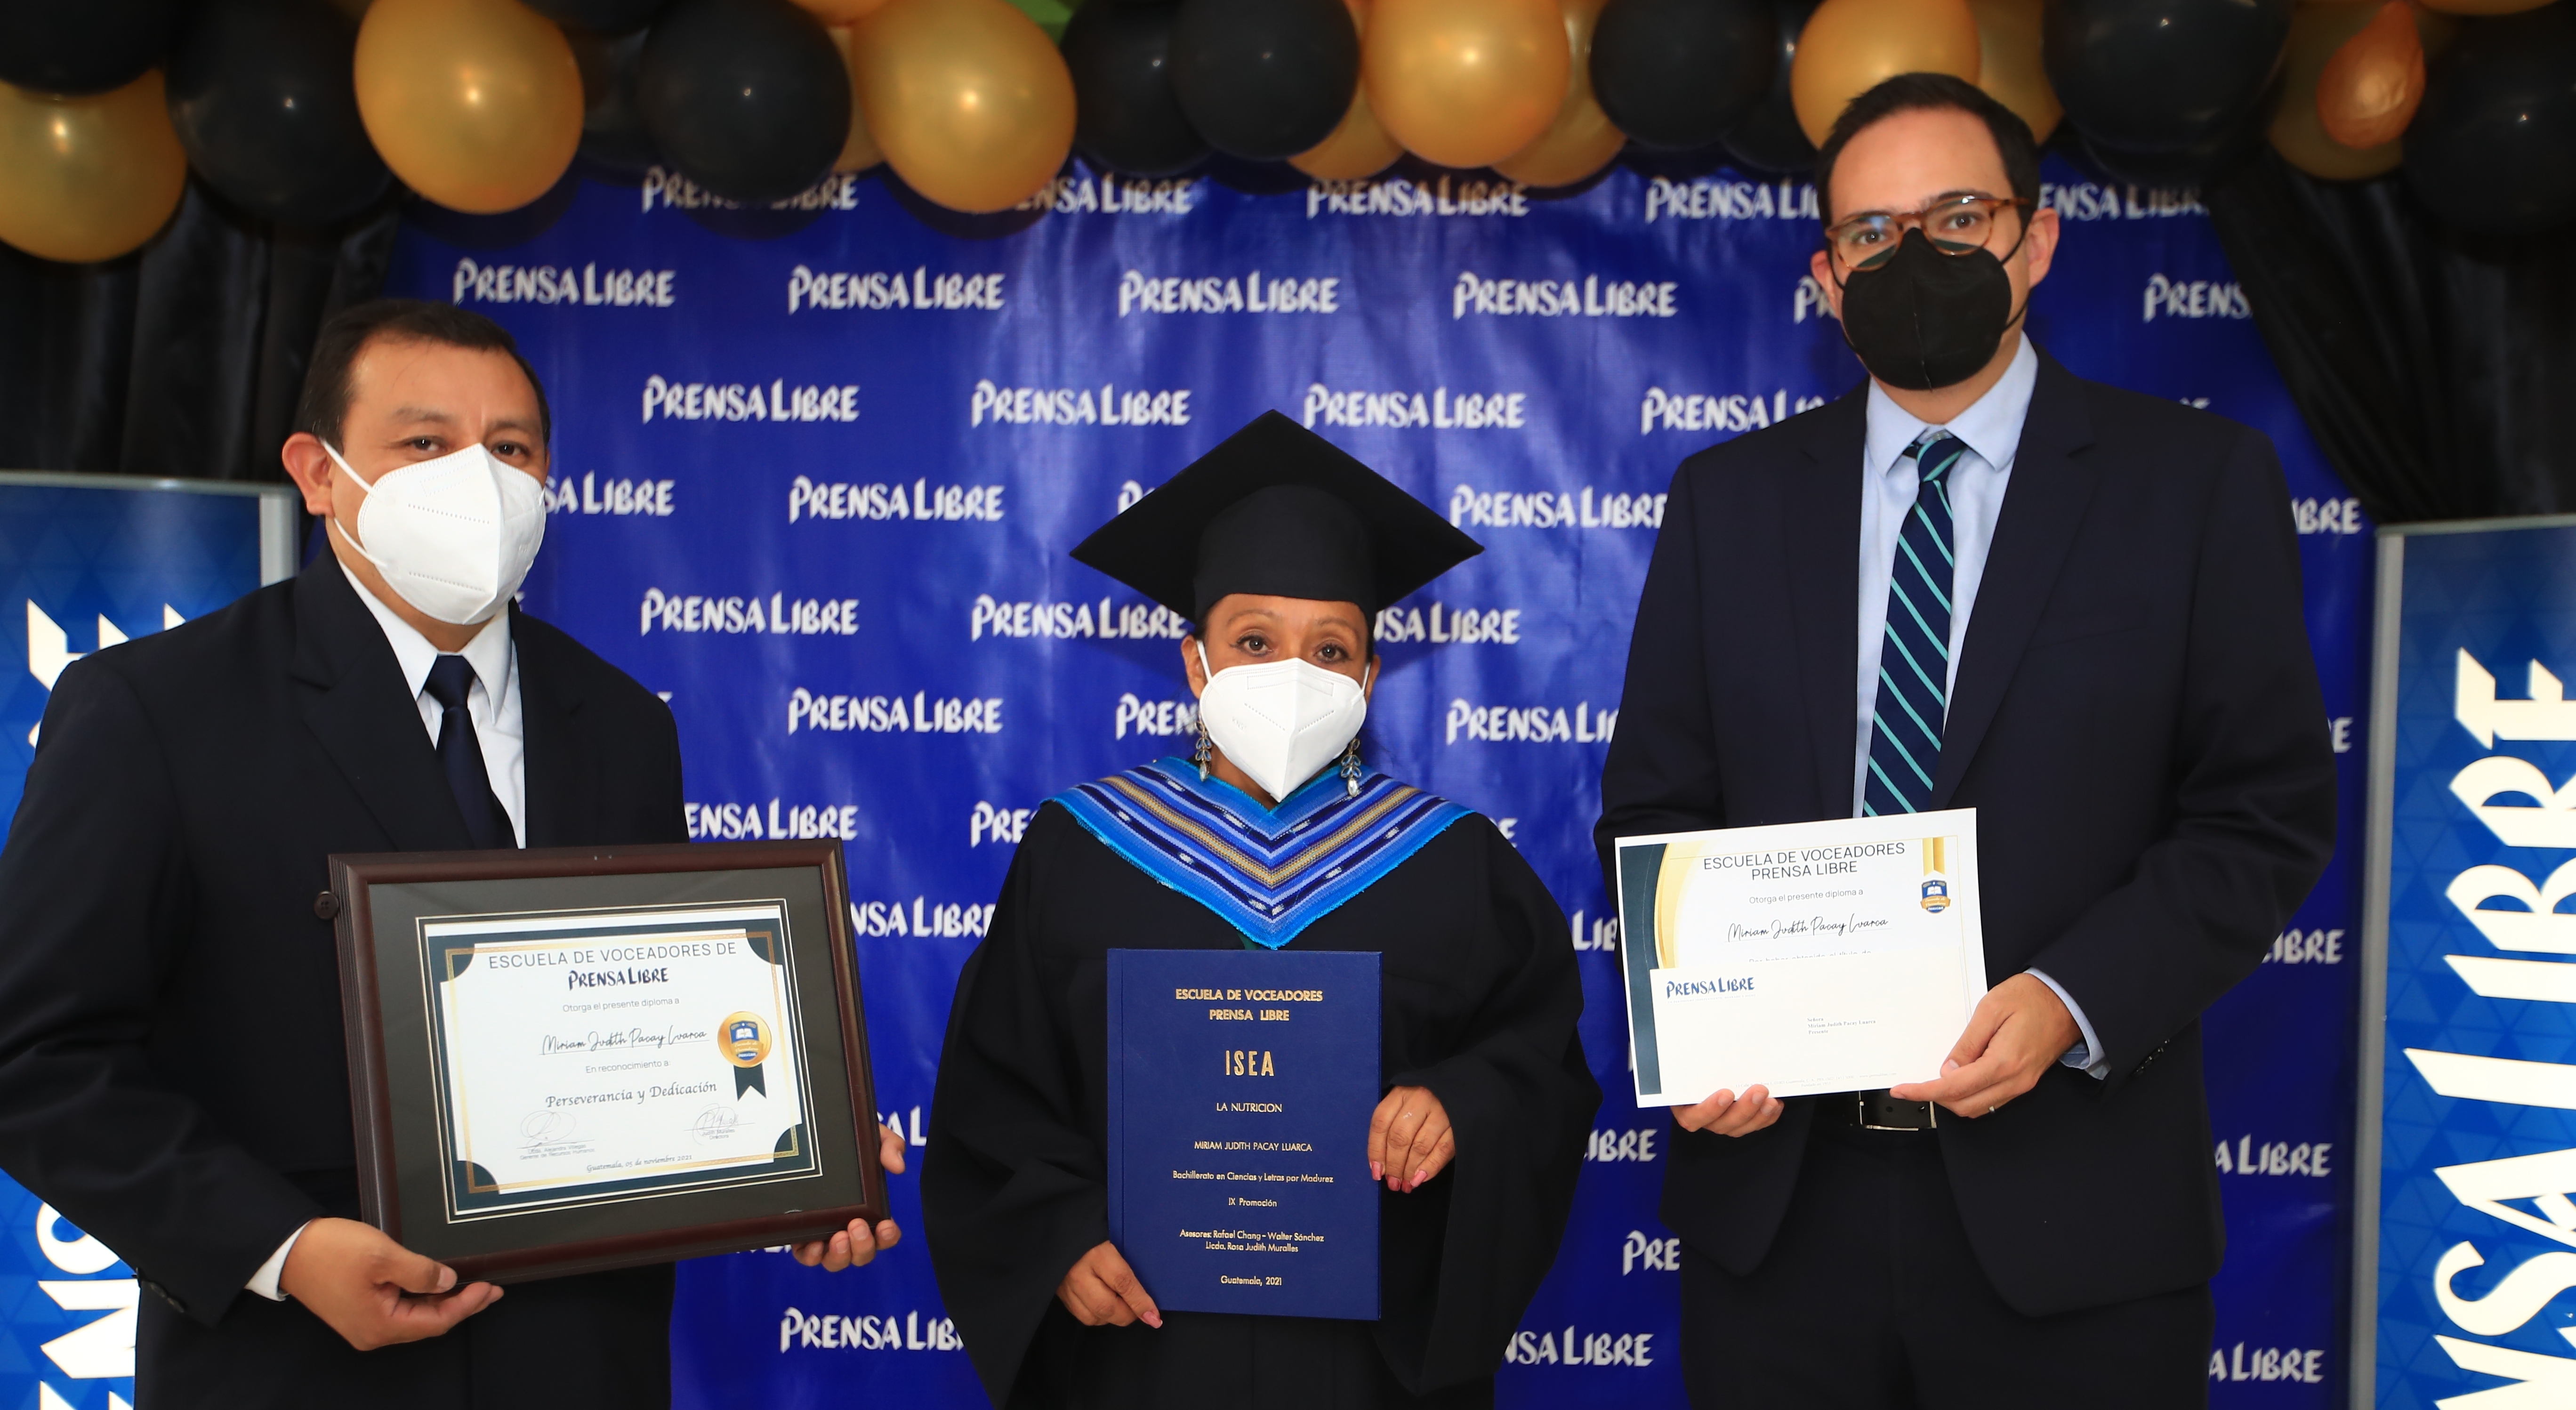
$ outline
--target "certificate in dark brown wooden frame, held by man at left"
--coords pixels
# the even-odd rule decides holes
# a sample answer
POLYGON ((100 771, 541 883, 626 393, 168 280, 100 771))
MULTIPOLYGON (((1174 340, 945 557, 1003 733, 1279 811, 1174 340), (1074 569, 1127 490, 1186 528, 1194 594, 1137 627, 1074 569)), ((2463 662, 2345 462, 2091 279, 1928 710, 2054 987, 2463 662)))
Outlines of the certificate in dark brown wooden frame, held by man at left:
POLYGON ((840 843, 330 858, 358 1201, 531 1281, 884 1219, 840 843))

